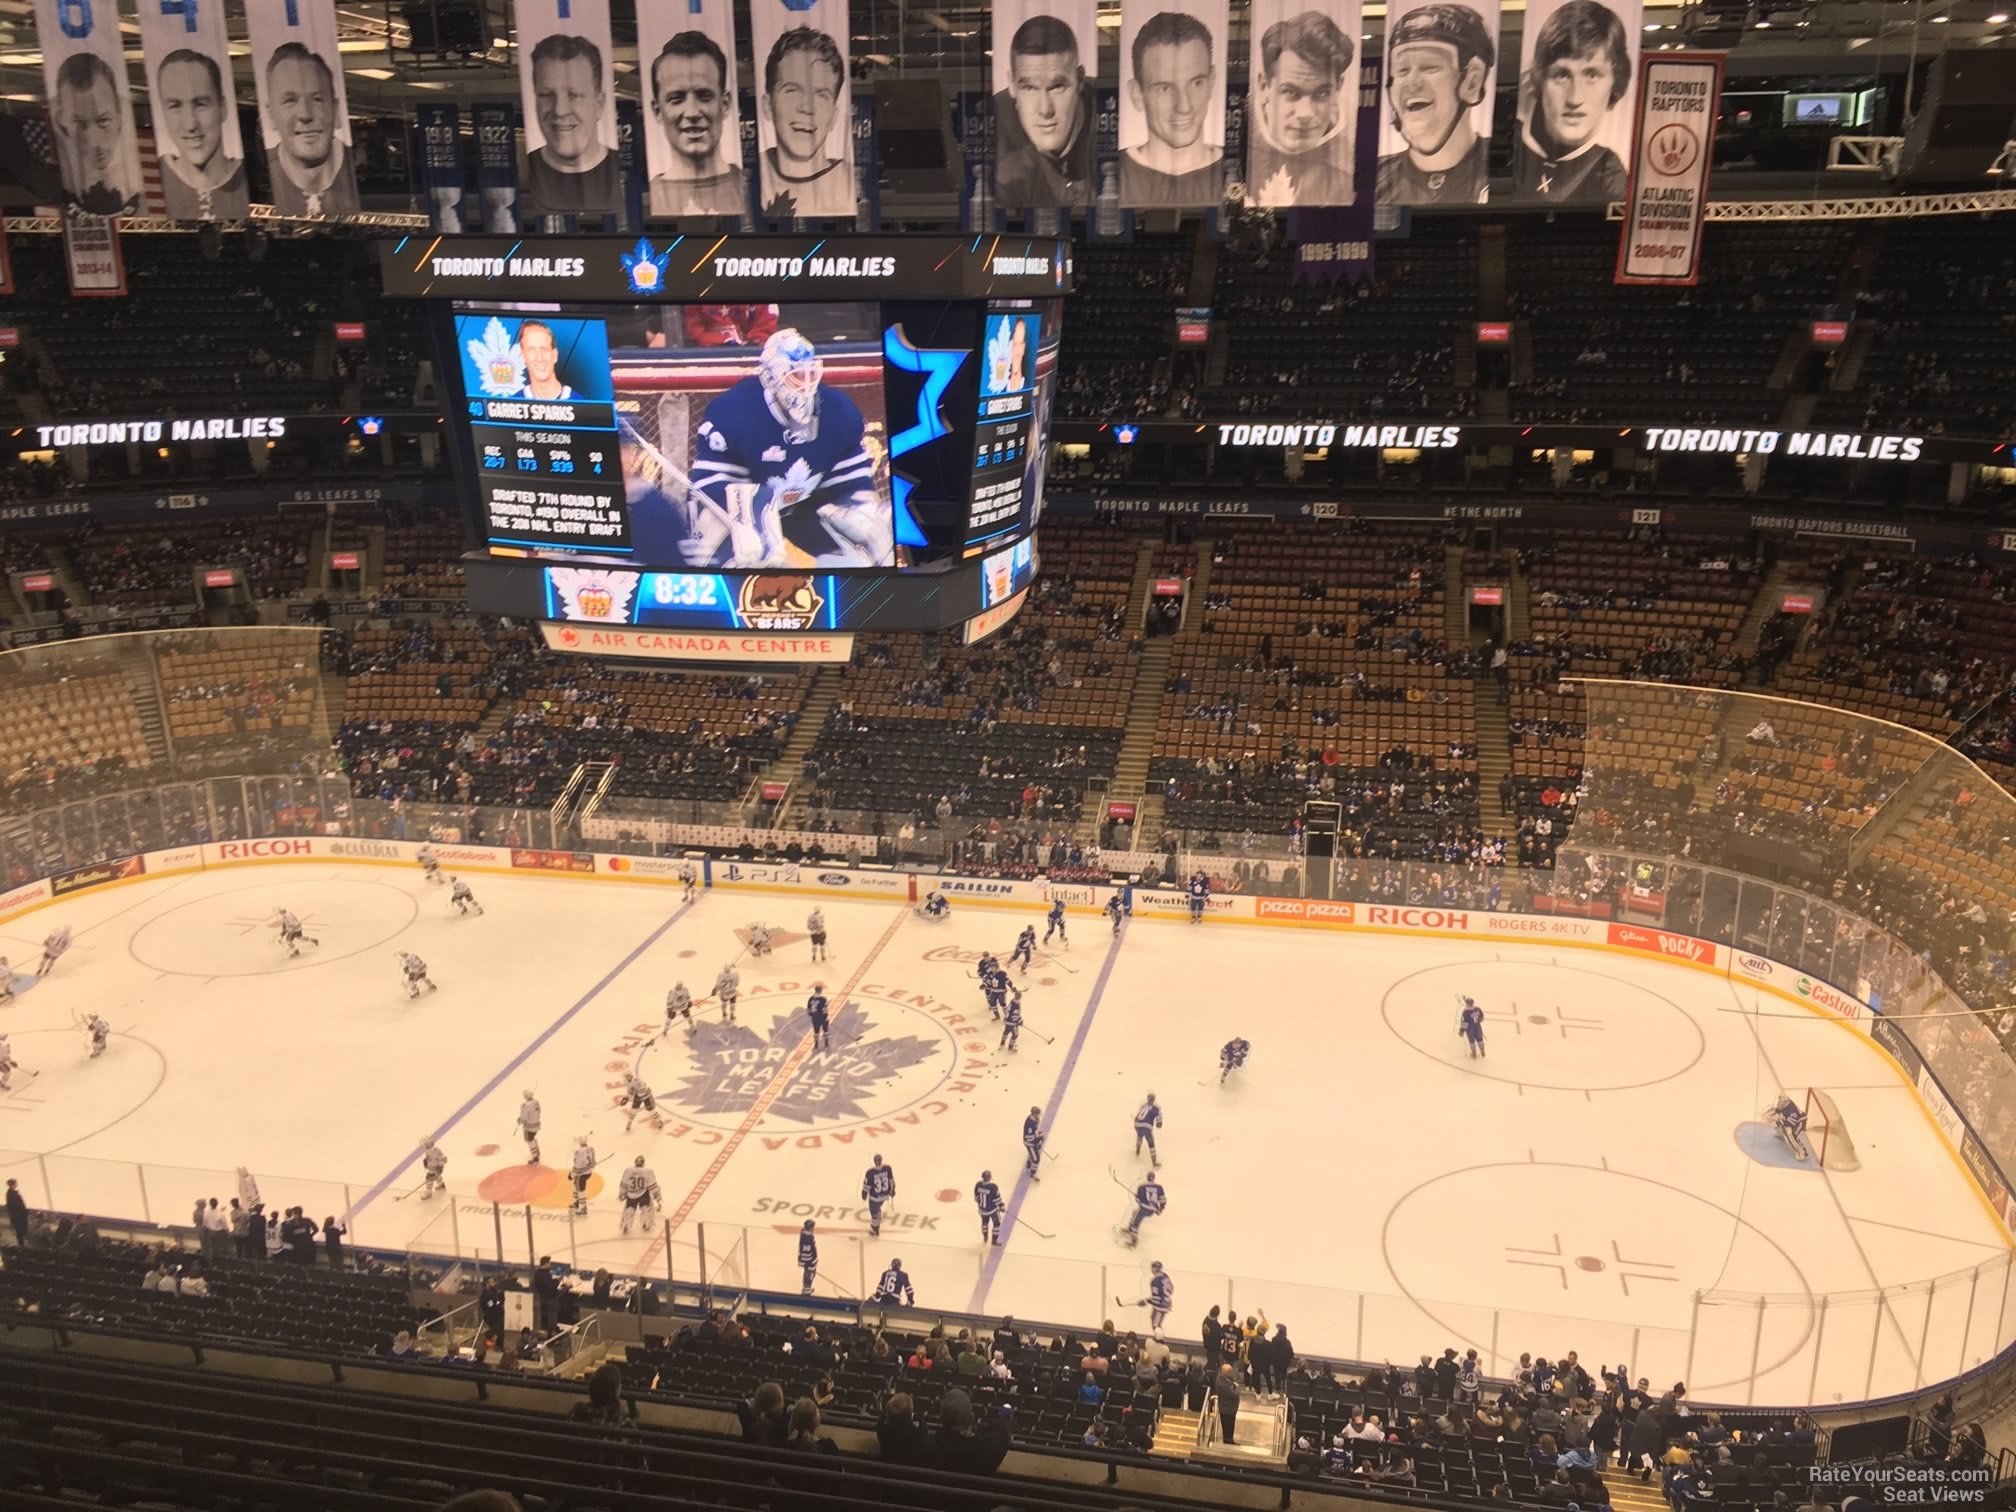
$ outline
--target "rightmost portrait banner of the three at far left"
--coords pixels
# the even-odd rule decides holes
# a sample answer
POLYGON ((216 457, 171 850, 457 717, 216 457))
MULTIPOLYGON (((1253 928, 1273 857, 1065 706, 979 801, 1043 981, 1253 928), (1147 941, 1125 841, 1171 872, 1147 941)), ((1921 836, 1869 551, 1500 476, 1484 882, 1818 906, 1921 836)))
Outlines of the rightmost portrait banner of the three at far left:
POLYGON ((357 165, 335 0, 248 4, 246 34, 274 210, 355 216, 357 165))

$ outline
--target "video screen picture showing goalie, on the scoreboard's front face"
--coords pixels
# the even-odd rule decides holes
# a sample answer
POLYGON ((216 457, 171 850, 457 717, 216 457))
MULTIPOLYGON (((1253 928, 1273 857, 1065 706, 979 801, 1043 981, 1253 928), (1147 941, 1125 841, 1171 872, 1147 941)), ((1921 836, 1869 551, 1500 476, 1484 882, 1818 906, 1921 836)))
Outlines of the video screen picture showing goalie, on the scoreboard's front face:
POLYGON ((609 314, 631 560, 895 566, 877 304, 609 314))

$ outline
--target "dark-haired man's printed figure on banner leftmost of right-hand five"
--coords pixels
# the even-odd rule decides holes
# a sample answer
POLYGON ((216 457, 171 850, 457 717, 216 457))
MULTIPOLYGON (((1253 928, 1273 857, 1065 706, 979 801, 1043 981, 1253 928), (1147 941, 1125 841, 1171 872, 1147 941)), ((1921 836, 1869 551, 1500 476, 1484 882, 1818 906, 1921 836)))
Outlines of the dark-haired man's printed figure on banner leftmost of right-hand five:
POLYGON ((1089 206, 1093 109, 1093 85, 1070 24, 1030 16, 1016 26, 1008 42, 1008 89, 994 97, 994 119, 1002 123, 994 198, 1008 210, 1089 206))

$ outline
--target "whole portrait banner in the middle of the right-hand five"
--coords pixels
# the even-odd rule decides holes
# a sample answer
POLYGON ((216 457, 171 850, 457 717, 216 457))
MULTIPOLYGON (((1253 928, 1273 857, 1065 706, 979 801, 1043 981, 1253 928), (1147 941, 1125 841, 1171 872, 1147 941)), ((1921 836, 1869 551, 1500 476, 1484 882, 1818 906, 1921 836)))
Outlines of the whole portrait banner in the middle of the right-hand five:
POLYGON ((1254 0, 1246 202, 1349 206, 1359 123, 1359 0, 1254 0))

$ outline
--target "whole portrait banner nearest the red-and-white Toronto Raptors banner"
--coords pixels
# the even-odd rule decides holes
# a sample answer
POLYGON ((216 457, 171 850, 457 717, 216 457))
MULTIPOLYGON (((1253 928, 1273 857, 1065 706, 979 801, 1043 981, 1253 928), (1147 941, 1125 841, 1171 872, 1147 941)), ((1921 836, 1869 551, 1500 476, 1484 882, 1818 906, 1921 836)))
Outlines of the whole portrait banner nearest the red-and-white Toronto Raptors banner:
POLYGON ((1607 206, 1625 198, 1643 30, 1641 0, 1528 0, 1512 143, 1520 204, 1607 206))

